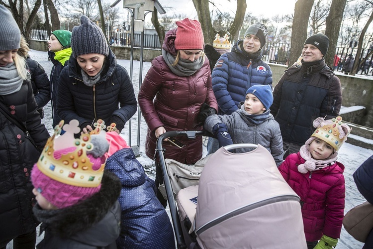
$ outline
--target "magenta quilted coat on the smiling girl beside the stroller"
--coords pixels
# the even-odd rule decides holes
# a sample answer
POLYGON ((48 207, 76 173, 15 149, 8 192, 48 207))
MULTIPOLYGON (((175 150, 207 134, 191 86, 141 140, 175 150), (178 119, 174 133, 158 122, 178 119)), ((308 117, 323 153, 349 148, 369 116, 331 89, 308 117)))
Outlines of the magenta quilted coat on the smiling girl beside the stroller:
POLYGON ((345 178, 342 163, 302 174, 299 164, 305 160, 299 152, 290 154, 279 166, 280 173, 303 203, 302 217, 306 241, 323 235, 338 239, 345 209, 345 178))

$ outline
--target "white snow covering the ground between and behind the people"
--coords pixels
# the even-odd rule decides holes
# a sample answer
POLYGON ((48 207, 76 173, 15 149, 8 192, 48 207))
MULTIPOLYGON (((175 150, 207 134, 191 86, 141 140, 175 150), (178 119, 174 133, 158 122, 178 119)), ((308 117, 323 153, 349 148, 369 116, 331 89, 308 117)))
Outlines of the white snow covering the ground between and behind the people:
MULTIPOLYGON (((44 51, 36 51, 31 50, 30 56, 32 59, 38 61, 47 72, 48 76, 50 74, 52 63, 48 61, 47 52, 44 51)), ((130 72, 130 61, 128 60, 117 60, 117 63, 127 69, 128 72, 130 72)), ((150 62, 144 62, 143 63, 143 72, 142 72, 142 79, 144 79, 146 72, 150 68, 151 63, 150 62)), ((138 94, 139 89, 139 70, 140 70, 140 62, 139 61, 133 61, 133 85, 135 89, 135 95, 138 94)), ((365 76, 366 77, 366 76, 365 76)), ((51 120, 51 106, 50 103, 44 108, 45 117, 43 119, 43 123, 48 128, 49 132, 52 133, 52 120, 51 120)), ((123 129, 121 135, 129 141, 129 124, 126 124, 126 127, 123 129)), ((145 137, 147 132, 147 125, 145 121, 142 119, 139 119, 138 113, 136 113, 131 121, 131 145, 137 144, 137 133, 140 133, 139 138, 139 145, 140 145, 140 156, 137 157, 137 159, 140 161, 140 163, 144 166, 146 169, 147 174, 154 179, 154 163, 153 161, 148 158, 145 155, 145 137), (140 122, 138 122, 140 120, 140 122)), ((372 141, 372 140, 371 140, 372 141)), ((204 148, 204 153, 206 152, 204 148)), ((345 143, 340 151, 338 152, 338 161, 343 163, 345 165, 345 172, 344 176, 346 179, 346 207, 345 207, 345 214, 347 211, 349 211, 351 208, 353 208, 356 205, 359 205, 365 201, 364 197, 359 193, 357 190, 357 187, 355 185, 354 179, 352 177, 352 174, 355 172, 355 170, 368 158, 373 154, 373 150, 358 147, 349 143, 345 143)), ((40 241, 40 238, 38 238, 38 241, 40 241)), ((7 248, 10 245, 8 245, 7 248)), ((356 241, 353 237, 351 237, 345 230, 342 228, 341 238, 337 244, 337 249, 359 249, 363 247, 363 243, 356 241)))

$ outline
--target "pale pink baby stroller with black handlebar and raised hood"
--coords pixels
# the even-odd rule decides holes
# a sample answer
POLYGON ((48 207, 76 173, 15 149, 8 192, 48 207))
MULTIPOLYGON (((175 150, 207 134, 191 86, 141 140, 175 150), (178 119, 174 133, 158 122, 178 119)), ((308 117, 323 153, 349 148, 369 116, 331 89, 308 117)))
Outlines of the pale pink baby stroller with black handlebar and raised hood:
POLYGON ((261 145, 219 148, 206 162, 199 184, 180 190, 175 200, 162 141, 180 135, 193 139, 204 131, 169 131, 157 140, 178 248, 307 248, 300 198, 261 145), (228 151, 240 147, 253 150, 228 151))

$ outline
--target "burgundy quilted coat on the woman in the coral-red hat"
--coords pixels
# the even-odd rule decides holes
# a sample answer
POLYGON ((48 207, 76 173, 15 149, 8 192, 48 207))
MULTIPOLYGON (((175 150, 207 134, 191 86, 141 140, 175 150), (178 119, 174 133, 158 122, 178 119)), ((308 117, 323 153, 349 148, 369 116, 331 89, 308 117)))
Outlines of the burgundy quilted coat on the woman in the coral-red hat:
MULTIPOLYGON (((173 55, 176 55, 175 35, 176 29, 168 31, 163 44, 163 49, 173 55)), ((170 70, 162 55, 156 57, 141 85, 138 102, 148 124, 146 155, 153 159, 157 141, 154 132, 158 127, 164 126, 166 131, 201 130, 197 117, 202 104, 207 103, 218 109, 208 59, 205 58, 203 66, 193 75, 178 76, 170 70)), ((186 144, 182 149, 163 143, 166 158, 194 163, 202 157, 201 136, 189 140, 187 137, 178 139, 186 144)))

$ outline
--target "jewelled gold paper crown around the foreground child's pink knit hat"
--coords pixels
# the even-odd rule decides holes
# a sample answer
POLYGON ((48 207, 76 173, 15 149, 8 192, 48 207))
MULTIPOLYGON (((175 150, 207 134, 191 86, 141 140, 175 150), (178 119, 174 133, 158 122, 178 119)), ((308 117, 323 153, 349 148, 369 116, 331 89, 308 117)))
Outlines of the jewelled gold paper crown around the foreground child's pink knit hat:
POLYGON ((48 139, 37 161, 37 167, 46 176, 65 184, 78 187, 97 187, 101 183, 105 163, 93 170, 93 163, 87 157, 87 151, 93 149, 90 134, 82 134, 80 139, 79 122, 70 121, 64 125, 62 120, 54 128, 54 134, 48 139), (61 129, 66 131, 63 135, 61 129))

